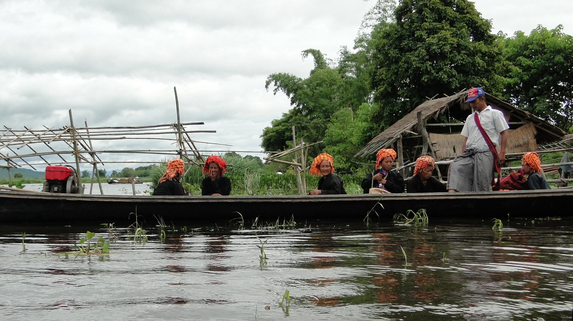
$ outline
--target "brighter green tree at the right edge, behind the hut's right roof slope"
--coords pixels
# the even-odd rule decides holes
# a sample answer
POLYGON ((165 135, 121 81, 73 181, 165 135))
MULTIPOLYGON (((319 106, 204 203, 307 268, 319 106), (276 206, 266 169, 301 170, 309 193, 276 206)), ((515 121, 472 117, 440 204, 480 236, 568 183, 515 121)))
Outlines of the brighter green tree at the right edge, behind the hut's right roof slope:
POLYGON ((573 37, 563 26, 539 25, 529 35, 500 33, 505 69, 505 99, 571 132, 573 125, 573 37))

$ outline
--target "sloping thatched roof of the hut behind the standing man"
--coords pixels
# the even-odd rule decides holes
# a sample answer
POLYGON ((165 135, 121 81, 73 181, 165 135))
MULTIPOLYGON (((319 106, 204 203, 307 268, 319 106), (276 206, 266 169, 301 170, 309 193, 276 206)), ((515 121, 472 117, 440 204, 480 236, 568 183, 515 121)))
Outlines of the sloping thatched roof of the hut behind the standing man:
MULTIPOLYGON (((367 156, 369 154, 377 152, 381 148, 387 148, 393 144, 400 135, 409 136, 417 132, 418 118, 417 113, 422 112, 422 121, 427 122, 431 117, 437 117, 439 114, 445 112, 449 108, 458 108, 466 111, 466 116, 471 113, 471 108, 469 104, 466 104, 465 98, 468 95, 469 90, 459 92, 453 96, 437 98, 433 100, 427 100, 421 105, 416 107, 412 112, 404 116, 401 120, 395 122, 393 125, 388 127, 378 136, 374 137, 362 150, 356 153, 356 157, 367 156)), ((537 130, 537 139, 540 142, 550 142, 559 141, 567 134, 558 127, 551 125, 550 122, 542 120, 541 118, 525 112, 516 106, 509 104, 508 102, 499 100, 490 94, 485 94, 486 101, 490 105, 494 105, 497 109, 502 110, 509 117, 514 117, 520 121, 532 122, 537 130)), ((465 121, 462 119, 462 121, 465 121)))

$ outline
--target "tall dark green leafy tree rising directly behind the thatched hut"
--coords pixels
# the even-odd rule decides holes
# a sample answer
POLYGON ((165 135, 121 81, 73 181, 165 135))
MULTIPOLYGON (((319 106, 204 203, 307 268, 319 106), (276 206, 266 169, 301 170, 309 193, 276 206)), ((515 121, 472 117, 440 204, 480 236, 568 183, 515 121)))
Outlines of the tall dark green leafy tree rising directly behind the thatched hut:
MULTIPOLYGON (((426 97, 485 87, 497 93, 501 48, 467 0, 402 0, 395 22, 374 27, 372 88, 380 129, 426 97)), ((443 96, 442 96, 443 97, 443 96)))

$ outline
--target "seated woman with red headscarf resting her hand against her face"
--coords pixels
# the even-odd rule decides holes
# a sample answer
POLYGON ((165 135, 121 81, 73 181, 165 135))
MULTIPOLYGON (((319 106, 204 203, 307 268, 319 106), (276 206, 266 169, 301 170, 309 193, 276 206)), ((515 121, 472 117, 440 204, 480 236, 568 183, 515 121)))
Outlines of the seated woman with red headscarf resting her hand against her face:
POLYGON ((207 177, 201 183, 201 195, 227 196, 231 193, 231 180, 223 176, 226 167, 227 162, 219 156, 207 158, 203 165, 203 174, 207 174, 207 177))

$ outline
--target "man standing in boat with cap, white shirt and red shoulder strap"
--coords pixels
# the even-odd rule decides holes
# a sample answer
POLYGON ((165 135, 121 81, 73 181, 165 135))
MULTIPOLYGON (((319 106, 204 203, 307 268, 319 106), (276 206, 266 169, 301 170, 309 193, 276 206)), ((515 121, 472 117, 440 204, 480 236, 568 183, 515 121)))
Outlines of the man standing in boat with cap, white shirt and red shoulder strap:
POLYGON ((489 191, 493 170, 499 172, 505 163, 509 125, 500 110, 486 104, 484 89, 470 89, 466 102, 469 102, 474 112, 466 119, 461 132, 464 137, 464 153, 450 164, 448 191, 489 191), (500 148, 499 153, 497 146, 500 148))

